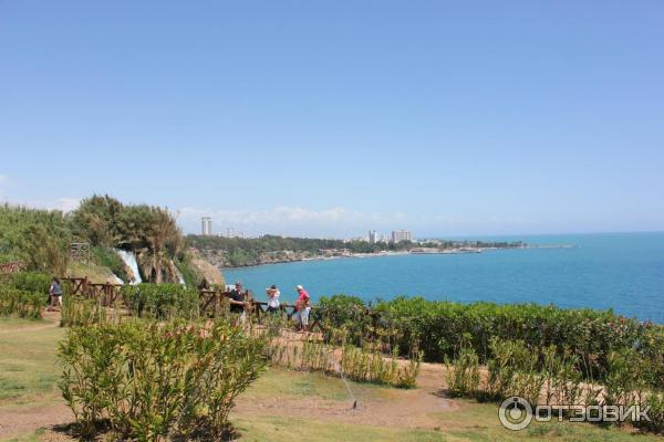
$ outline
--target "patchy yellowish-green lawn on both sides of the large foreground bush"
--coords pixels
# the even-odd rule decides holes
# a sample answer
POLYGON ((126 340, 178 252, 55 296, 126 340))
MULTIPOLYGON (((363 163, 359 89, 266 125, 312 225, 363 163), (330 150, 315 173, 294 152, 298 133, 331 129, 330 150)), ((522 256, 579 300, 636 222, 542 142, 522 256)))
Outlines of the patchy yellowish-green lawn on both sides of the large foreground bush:
MULTIPOLYGON (((34 404, 61 403, 56 381, 58 341, 64 330, 45 320, 0 318, 0 424, 3 410, 21 410, 34 404), (48 327, 48 328, 43 328, 48 327)), ((360 403, 387 401, 394 390, 366 383, 351 382, 360 403)), ((243 441, 307 442, 321 441, 664 441, 655 435, 633 434, 621 429, 602 429, 581 423, 533 423, 527 430, 511 432, 500 427, 497 406, 455 400, 454 410, 434 415, 436 429, 378 427, 372 422, 344 423, 328 415, 305 419, 287 407, 273 413, 258 413, 253 403, 273 398, 312 403, 343 403, 350 399, 343 381, 321 373, 269 369, 242 397, 241 410, 231 413, 231 421, 243 441)), ((369 407, 370 407, 369 406, 369 407)), ((43 427, 48 427, 48 422, 43 427)), ((62 436, 59 436, 61 440, 62 436)), ((49 431, 38 428, 6 441, 33 442, 49 439, 49 431)))

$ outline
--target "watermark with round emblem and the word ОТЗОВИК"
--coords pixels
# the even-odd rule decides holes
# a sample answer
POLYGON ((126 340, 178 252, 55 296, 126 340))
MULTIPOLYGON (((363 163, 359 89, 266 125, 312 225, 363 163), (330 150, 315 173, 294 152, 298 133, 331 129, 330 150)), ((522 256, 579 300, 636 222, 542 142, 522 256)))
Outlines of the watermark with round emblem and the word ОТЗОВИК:
POLYGON ((502 401, 498 419, 508 430, 523 430, 536 422, 640 422, 650 421, 650 406, 536 406, 523 398, 511 397, 502 401))

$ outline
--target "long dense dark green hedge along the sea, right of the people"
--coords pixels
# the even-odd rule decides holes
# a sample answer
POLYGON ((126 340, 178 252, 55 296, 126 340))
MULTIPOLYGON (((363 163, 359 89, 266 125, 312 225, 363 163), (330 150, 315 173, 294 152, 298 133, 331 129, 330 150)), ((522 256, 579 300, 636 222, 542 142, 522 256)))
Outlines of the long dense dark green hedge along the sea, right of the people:
MULTIPOLYGON (((520 340, 527 348, 553 346, 558 355, 580 355, 575 368, 601 380, 608 373, 611 352, 631 348, 649 361, 652 385, 664 385, 664 327, 639 323, 612 311, 537 304, 464 304, 401 296, 376 303, 372 319, 360 314, 366 307, 360 298, 345 295, 323 298, 321 307, 323 324, 349 330, 350 343, 392 333, 391 345, 398 346, 402 355, 409 354, 416 345, 427 361, 455 359, 467 345, 486 364, 492 357, 494 338, 520 340)), ((543 365, 541 356, 538 369, 543 365)))

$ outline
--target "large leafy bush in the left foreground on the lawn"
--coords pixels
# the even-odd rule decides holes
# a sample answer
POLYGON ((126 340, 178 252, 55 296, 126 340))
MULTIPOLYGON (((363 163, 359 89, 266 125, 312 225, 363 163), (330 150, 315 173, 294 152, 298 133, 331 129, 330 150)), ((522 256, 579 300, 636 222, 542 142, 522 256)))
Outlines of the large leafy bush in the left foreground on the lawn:
POLYGON ((238 394, 266 367, 264 345, 221 320, 74 327, 59 349, 60 388, 85 438, 220 440, 238 394))

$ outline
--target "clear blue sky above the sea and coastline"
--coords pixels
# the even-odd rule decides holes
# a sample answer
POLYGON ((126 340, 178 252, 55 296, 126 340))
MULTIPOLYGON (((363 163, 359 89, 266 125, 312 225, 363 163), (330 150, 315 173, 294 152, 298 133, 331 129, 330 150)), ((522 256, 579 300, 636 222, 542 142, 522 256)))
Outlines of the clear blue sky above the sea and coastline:
POLYGON ((661 1, 0 1, 0 201, 185 231, 664 230, 661 1))

